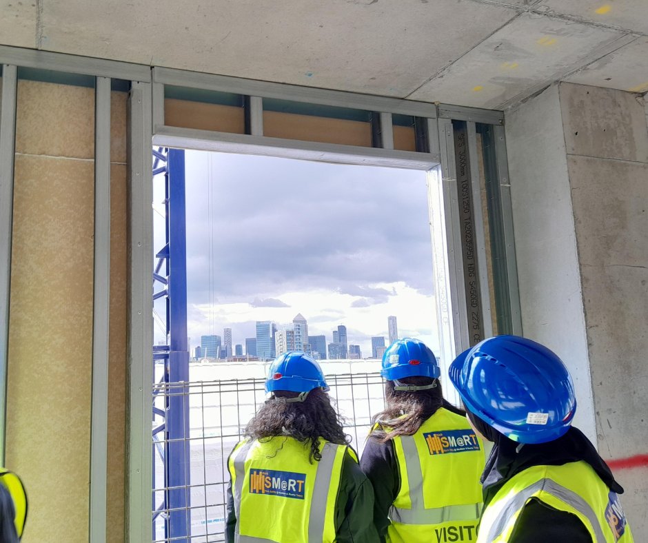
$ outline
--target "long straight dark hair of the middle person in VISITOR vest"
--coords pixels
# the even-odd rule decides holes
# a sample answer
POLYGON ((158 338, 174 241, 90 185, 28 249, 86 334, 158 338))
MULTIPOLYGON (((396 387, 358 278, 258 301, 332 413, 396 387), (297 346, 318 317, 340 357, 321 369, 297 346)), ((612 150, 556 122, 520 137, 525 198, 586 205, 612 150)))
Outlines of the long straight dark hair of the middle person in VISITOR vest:
MULTIPOLYGON (((432 384, 429 377, 414 376, 401 379, 405 385, 425 386, 432 384)), ((396 436, 412 436, 421 428, 421 424, 436 413, 439 407, 445 407, 454 413, 465 413, 443 399, 441 382, 436 380, 436 387, 427 390, 406 391, 394 390, 394 381, 385 382, 385 401, 387 407, 372 417, 378 427, 371 434, 373 439, 385 443, 396 436), (386 430, 385 427, 388 427, 386 430)))

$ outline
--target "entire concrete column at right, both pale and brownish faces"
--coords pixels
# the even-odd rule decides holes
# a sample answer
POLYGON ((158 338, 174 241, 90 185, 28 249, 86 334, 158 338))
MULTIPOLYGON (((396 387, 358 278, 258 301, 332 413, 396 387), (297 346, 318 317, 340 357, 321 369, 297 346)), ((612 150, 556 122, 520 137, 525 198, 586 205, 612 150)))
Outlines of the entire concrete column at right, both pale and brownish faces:
POLYGON ((648 447, 645 121, 636 94, 567 83, 506 117, 524 333, 576 371, 579 410, 594 409, 586 433, 624 486, 639 539, 648 470, 618 460, 648 447))

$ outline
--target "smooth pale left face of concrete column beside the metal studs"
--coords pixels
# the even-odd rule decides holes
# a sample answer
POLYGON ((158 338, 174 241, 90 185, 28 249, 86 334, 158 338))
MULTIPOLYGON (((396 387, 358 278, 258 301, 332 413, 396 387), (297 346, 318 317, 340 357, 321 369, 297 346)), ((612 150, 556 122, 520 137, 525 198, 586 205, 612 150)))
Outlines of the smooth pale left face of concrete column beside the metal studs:
POLYGON ((506 116, 522 326, 565 361, 574 424, 596 443, 574 212, 558 87, 506 116))

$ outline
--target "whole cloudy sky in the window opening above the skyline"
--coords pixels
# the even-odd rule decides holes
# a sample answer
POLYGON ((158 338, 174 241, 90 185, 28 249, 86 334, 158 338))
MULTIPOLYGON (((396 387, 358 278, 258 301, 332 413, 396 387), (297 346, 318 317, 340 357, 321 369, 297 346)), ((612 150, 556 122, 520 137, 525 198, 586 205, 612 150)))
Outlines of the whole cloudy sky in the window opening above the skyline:
POLYGON ((436 346, 425 172, 188 151, 188 334, 292 322, 371 355, 387 316, 436 346), (434 331, 434 332, 433 332, 434 331))

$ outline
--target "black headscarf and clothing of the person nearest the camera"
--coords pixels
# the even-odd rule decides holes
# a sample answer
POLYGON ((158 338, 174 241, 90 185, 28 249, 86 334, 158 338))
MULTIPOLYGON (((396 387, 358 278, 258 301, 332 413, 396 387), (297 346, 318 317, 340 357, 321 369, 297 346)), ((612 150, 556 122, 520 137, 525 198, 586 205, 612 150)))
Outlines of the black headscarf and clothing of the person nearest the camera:
MULTIPOLYGON (((618 494, 623 489, 614 480, 609 467, 600 458, 594 446, 579 429, 571 427, 557 440, 540 444, 520 445, 503 436, 483 420, 469 415, 480 433, 494 442, 481 478, 484 491, 484 508, 493 500, 498 490, 514 475, 534 466, 562 466, 569 462, 587 462, 611 491, 618 494)), ((591 543, 591 536, 576 515, 558 511, 532 498, 523 507, 509 543, 569 542, 591 543)))

